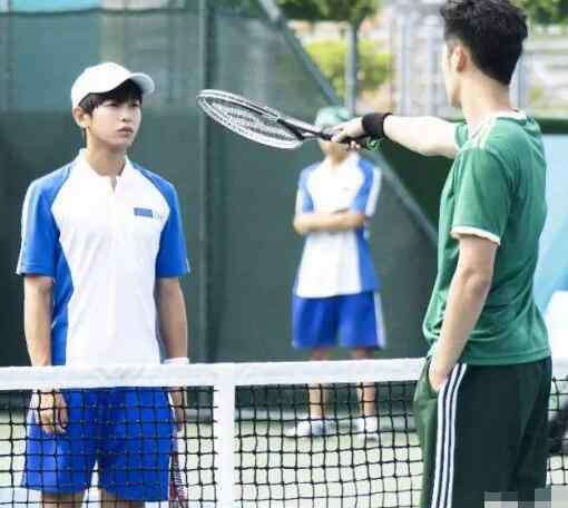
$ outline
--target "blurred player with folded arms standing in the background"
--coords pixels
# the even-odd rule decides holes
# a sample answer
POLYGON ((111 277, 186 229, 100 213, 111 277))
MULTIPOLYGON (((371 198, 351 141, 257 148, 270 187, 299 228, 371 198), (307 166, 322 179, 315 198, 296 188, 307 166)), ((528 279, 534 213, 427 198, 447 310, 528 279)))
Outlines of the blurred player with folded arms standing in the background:
MULTIPOLYGON (((350 119, 345 108, 326 107, 315 123, 333 127, 350 119)), ((366 223, 374 214, 380 172, 341 145, 320 141, 324 160, 306 167, 298 182, 294 228, 305 236, 292 304, 293 345, 310 350, 311 360, 329 360, 337 342, 354 359, 368 359, 384 346, 384 328, 366 223)), ((373 385, 359 389, 359 431, 376 437, 373 385)), ((310 389, 310 419, 288 436, 336 431, 325 418, 326 390, 310 389)))

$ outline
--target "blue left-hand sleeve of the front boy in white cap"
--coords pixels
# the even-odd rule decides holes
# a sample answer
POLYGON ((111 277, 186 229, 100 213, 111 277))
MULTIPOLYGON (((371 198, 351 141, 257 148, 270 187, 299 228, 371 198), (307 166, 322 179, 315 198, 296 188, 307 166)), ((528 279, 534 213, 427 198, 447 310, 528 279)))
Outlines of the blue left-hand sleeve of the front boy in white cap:
POLYGON ((16 273, 56 276, 59 228, 40 180, 28 188, 22 208, 21 247, 16 273))

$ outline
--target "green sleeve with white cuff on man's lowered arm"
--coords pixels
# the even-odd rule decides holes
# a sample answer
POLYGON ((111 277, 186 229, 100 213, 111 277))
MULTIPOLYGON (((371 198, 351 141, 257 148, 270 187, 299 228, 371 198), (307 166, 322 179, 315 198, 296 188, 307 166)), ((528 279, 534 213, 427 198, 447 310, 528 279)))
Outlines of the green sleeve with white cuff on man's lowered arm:
POLYGON ((474 234, 497 244, 507 227, 513 195, 513 178, 506 166, 482 148, 459 156, 452 236, 474 234))

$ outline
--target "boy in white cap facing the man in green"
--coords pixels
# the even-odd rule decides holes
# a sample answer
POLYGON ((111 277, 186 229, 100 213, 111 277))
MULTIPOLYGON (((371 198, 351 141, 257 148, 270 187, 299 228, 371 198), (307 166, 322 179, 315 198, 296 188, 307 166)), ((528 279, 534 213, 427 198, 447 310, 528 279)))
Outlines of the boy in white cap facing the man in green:
MULTIPOLYGON (((17 272, 23 275, 31 363, 187 363, 178 277, 188 272, 176 190, 130 162, 149 76, 107 62, 71 89, 86 148, 33 182, 22 212, 17 272)), ((177 424, 180 392, 172 392, 177 424)), ((102 502, 167 499, 175 421, 160 389, 39 392, 28 420, 23 487, 47 506, 80 506, 98 465, 102 502)))

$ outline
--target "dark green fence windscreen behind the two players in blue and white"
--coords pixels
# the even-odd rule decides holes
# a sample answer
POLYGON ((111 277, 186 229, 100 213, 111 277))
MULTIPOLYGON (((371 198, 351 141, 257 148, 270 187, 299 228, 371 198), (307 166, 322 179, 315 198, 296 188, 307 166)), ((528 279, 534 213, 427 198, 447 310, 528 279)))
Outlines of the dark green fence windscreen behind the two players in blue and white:
MULTIPOLYGON (((126 4, 128 2, 125 2, 126 4)), ((305 358, 293 351, 290 301, 302 241, 292 231, 300 170, 321 154, 261 147, 206 123, 200 88, 223 88, 310 119, 333 100, 284 27, 255 1, 172 1, 153 10, 0 14, 1 364, 27 363, 20 209, 33 179, 81 147, 69 89, 88 65, 151 75, 131 158, 179 194, 193 272, 184 280, 196 361, 305 358)), ((420 322, 435 255, 417 215, 385 178, 372 244, 382 277, 388 356, 424 351, 420 322)))

